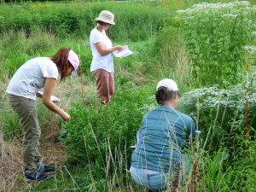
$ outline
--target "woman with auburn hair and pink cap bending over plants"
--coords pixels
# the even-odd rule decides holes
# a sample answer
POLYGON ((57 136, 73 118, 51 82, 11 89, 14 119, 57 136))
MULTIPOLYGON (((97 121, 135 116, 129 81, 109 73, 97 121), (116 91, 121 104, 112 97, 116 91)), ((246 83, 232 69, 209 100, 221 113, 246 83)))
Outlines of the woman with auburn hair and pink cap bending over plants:
POLYGON ((22 147, 26 180, 41 181, 47 178, 46 172, 55 172, 55 167, 45 166, 41 161, 36 97, 42 98, 46 108, 58 113, 65 121, 69 120, 70 115, 55 105, 54 102, 59 100, 52 101, 51 94, 58 75, 61 75, 61 81, 65 80, 71 73, 76 74, 78 67, 79 56, 71 49, 61 48, 54 56, 26 61, 9 82, 6 90, 9 103, 18 114, 24 131, 22 147), (38 93, 41 88, 44 88, 43 94, 38 93))

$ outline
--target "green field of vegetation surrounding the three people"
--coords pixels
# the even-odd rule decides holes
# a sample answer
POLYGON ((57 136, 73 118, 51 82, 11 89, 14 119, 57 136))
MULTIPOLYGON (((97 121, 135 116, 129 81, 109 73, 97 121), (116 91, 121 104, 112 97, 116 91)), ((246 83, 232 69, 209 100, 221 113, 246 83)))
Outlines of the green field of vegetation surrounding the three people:
POLYGON ((165 78, 177 82, 183 95, 178 108, 201 131, 200 143, 189 148, 191 162, 198 160, 197 179, 189 174, 177 191, 196 183, 201 192, 256 192, 253 1, 0 3, 0 36, 1 192, 144 191, 128 172, 131 146, 143 114, 157 105, 155 85, 165 78), (116 90, 107 106, 96 100, 90 73, 89 35, 102 9, 115 15, 108 30, 113 44, 128 44, 134 52, 114 58, 116 90), (9 79, 25 61, 64 46, 79 53, 79 44, 83 75, 58 82, 54 93, 71 120, 63 122, 38 99, 43 160, 57 172, 42 183, 26 183, 22 131, 5 92, 9 79))

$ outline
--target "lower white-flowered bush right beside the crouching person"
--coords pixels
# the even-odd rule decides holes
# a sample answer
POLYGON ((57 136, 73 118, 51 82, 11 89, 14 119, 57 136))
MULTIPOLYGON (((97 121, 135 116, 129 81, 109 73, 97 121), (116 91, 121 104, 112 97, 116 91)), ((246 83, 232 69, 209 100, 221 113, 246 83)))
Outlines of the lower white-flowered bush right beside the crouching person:
MULTIPOLYGON (((255 68, 251 68, 248 95, 248 125, 250 140, 255 139, 256 97, 255 68)), ((207 149, 214 152, 221 146, 235 155, 245 148, 245 84, 230 85, 229 89, 215 87, 192 90, 184 94, 179 108, 189 113, 198 123, 207 149)))

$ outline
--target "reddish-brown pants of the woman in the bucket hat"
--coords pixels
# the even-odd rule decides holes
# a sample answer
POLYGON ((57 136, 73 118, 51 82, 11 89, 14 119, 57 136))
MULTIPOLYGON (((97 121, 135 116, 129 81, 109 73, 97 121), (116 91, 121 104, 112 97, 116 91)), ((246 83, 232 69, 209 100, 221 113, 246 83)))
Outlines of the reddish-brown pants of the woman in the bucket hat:
POLYGON ((113 73, 108 73, 104 69, 97 69, 93 73, 96 79, 97 96, 102 99, 103 103, 109 102, 114 91, 113 73))

